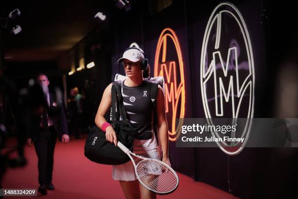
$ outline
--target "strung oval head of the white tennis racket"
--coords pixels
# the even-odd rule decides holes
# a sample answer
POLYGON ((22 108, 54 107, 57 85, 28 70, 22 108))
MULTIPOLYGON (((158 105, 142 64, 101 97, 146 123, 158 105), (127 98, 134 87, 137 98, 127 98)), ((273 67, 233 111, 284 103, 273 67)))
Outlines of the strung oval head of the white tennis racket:
POLYGON ((142 160, 137 165, 139 179, 152 191, 167 193, 177 186, 175 174, 165 165, 154 159, 142 160))

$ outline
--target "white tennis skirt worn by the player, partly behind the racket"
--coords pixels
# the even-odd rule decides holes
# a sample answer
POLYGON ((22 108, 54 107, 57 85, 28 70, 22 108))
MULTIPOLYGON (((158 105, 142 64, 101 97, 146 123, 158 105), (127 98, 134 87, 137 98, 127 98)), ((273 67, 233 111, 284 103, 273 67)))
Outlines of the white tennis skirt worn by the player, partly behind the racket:
MULTIPOLYGON (((133 153, 149 157, 152 159, 160 160, 161 149, 158 147, 155 135, 153 133, 152 139, 134 139, 133 140, 133 153)), ((133 157, 133 156, 132 156, 133 157)), ((136 164, 141 161, 141 159, 133 157, 136 164)), ((136 175, 134 172, 134 167, 131 161, 124 164, 112 165, 112 179, 132 181, 136 180, 136 175)))

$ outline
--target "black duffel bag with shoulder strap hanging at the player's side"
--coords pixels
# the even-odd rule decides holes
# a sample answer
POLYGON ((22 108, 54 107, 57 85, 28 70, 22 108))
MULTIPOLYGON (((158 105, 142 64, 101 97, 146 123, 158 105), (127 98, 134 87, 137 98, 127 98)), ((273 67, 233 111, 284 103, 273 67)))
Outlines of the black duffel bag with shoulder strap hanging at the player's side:
MULTIPOLYGON (((108 113, 106 117, 107 121, 112 122, 112 127, 116 132, 117 139, 132 151, 133 139, 137 136, 138 131, 127 119, 125 107, 122 102, 120 83, 117 81, 112 84, 111 110, 112 114, 108 113), (120 111, 123 120, 119 120, 117 104, 121 104, 120 111)), ((106 140, 106 133, 100 130, 96 125, 89 128, 89 135, 85 143, 85 156, 93 162, 109 165, 123 164, 130 160, 118 146, 106 140)))

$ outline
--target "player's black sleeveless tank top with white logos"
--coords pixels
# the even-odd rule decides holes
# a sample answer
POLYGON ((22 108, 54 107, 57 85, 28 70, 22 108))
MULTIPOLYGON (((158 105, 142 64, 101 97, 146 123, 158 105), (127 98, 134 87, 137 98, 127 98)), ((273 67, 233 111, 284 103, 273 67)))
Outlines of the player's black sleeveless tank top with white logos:
MULTIPOLYGON (((122 96, 127 118, 139 132, 137 139, 152 138, 152 111, 150 80, 143 80, 138 86, 126 86, 122 81, 122 96)), ((122 117, 121 117, 122 119, 122 117)))

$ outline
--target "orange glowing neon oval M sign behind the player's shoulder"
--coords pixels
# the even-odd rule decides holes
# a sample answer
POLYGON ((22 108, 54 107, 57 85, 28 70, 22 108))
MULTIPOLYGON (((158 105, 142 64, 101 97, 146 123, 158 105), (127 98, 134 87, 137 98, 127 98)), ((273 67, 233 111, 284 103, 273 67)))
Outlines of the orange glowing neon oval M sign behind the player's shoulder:
POLYGON ((157 42, 154 77, 157 76, 165 79, 168 137, 175 141, 183 123, 183 120, 180 120, 176 127, 176 119, 184 118, 185 115, 185 79, 180 44, 171 28, 164 29, 157 42))

